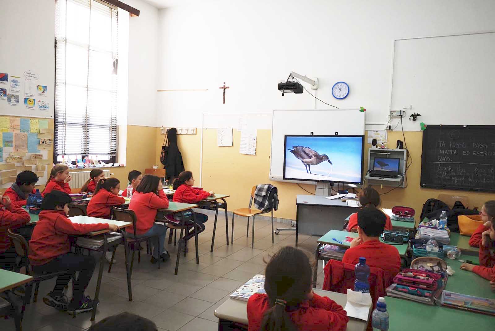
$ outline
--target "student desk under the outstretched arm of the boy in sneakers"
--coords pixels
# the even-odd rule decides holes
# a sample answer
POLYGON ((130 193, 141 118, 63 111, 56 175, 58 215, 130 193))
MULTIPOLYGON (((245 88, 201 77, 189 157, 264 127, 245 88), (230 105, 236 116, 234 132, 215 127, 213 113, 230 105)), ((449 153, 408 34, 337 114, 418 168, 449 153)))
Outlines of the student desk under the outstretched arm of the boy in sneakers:
MULTIPOLYGON (((132 226, 132 223, 130 222, 122 222, 122 221, 116 221, 116 220, 106 220, 106 219, 101 219, 101 218, 96 218, 96 217, 89 217, 89 216, 74 216, 70 217, 69 220, 71 220, 72 223, 78 223, 78 224, 97 224, 97 223, 108 223, 108 224, 115 224, 119 230, 132 226)), ((98 300, 99 298, 99 289, 101 285, 101 277, 103 276, 103 265, 105 264, 105 252, 107 249, 107 241, 106 241, 106 234, 110 230, 101 230, 101 231, 95 231, 87 234, 87 236, 98 236, 98 235, 103 235, 104 243, 103 245, 98 249, 101 251, 101 257, 99 261, 99 273, 98 273, 98 282, 96 285, 96 293, 95 293, 95 300, 98 300)), ((128 245, 126 241, 126 236, 123 236, 124 238, 124 251, 125 251, 125 266, 126 266, 126 273, 127 273, 127 290, 128 290, 128 295, 129 295, 129 301, 132 301, 132 289, 131 289, 131 274, 129 270, 129 259, 128 257, 128 245)), ((113 243, 112 243, 113 244, 113 243)), ((93 309, 91 313, 91 321, 95 320, 95 315, 96 315, 96 308, 93 309)))

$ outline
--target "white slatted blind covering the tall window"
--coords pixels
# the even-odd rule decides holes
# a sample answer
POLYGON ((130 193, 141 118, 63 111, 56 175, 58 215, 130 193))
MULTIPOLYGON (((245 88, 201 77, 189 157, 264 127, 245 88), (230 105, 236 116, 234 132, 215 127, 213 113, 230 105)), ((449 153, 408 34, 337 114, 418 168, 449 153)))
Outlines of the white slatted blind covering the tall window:
POLYGON ((117 7, 100 0, 56 0, 55 11, 54 159, 58 155, 114 159, 117 7))

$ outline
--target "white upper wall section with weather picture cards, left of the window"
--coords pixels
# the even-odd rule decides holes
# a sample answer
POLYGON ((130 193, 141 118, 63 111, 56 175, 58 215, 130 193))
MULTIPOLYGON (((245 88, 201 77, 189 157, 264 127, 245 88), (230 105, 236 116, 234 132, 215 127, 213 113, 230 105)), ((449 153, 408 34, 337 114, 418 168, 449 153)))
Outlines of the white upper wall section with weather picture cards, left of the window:
POLYGON ((0 114, 53 118, 55 2, 2 1, 2 12, 0 114))

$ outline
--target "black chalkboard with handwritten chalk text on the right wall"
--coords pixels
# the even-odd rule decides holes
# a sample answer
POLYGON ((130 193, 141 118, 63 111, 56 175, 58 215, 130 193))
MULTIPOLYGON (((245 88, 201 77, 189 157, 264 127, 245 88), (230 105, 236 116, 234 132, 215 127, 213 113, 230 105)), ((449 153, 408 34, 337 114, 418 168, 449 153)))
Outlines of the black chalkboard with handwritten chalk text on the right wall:
POLYGON ((495 126, 428 125, 421 187, 495 192, 495 126))

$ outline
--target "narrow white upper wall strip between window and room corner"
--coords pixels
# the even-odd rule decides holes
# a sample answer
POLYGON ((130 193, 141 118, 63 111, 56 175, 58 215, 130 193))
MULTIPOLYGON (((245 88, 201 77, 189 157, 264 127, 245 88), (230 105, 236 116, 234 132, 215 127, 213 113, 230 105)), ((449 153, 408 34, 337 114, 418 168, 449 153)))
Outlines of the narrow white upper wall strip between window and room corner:
POLYGON ((157 126, 158 9, 141 0, 124 1, 140 10, 129 18, 129 125, 157 126))

